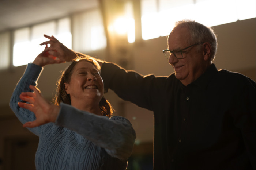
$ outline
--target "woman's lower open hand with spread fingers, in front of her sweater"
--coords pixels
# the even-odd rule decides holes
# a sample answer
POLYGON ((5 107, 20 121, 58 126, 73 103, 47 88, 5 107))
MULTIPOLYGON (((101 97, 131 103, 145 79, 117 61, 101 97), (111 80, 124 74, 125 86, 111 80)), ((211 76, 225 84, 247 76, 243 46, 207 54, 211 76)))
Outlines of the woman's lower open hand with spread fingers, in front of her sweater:
POLYGON ((30 85, 29 88, 34 90, 34 93, 22 92, 20 94, 20 99, 29 103, 19 102, 18 105, 34 112, 36 119, 23 124, 23 127, 33 128, 49 122, 55 122, 60 107, 46 101, 37 87, 30 85))

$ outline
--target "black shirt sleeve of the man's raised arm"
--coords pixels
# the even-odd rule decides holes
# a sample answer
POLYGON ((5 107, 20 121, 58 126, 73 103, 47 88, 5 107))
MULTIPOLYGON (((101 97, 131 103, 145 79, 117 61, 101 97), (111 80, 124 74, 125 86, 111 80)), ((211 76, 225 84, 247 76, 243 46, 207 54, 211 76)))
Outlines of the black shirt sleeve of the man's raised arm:
POLYGON ((139 107, 153 110, 155 96, 163 92, 166 85, 165 76, 155 77, 154 74, 143 76, 133 70, 125 70, 120 66, 104 62, 101 77, 105 92, 113 90, 123 100, 131 101, 139 107))

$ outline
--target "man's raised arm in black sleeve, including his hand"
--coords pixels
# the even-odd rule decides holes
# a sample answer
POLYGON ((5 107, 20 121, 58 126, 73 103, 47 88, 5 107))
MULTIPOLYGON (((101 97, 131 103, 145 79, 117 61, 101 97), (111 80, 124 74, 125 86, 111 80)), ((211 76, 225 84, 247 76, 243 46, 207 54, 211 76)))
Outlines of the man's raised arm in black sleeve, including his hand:
MULTIPOLYGON (((49 41, 43 42, 41 45, 50 44, 50 47, 45 48, 45 52, 48 52, 49 55, 64 61, 72 61, 76 57, 87 56, 68 49, 53 36, 44 36, 49 41)), ((131 101, 149 110, 153 109, 154 102, 152 100, 158 100, 161 95, 159 93, 163 92, 161 89, 166 87, 166 77, 156 78, 153 74, 143 76, 135 71, 127 71, 114 63, 94 59, 101 66, 101 77, 104 81, 105 92, 110 88, 124 100, 131 101)))

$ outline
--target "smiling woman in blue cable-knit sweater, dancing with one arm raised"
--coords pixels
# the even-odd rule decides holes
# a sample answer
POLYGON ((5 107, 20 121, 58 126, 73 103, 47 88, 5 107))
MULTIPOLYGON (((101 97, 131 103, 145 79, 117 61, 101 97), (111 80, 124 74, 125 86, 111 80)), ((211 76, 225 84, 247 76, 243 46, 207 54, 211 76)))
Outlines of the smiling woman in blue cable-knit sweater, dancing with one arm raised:
POLYGON ((124 117, 111 117, 97 61, 76 58, 68 66, 59 80, 55 105, 35 87, 42 67, 61 62, 45 52, 39 54, 27 65, 10 101, 23 127, 39 136, 36 169, 127 169, 135 131, 124 117))

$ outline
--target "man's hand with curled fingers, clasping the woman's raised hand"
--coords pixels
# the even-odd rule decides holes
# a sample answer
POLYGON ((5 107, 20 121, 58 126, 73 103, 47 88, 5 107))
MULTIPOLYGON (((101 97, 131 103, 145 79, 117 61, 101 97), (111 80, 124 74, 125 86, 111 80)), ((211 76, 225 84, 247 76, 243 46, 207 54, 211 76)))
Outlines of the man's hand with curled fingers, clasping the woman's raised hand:
POLYGON ((72 61, 77 57, 77 53, 71 49, 68 49, 61 42, 59 42, 54 36, 44 35, 49 41, 45 41, 40 45, 46 45, 43 52, 48 52, 49 55, 59 58, 61 61, 72 61), (50 44, 50 47, 47 45, 50 44))

